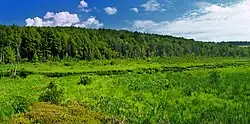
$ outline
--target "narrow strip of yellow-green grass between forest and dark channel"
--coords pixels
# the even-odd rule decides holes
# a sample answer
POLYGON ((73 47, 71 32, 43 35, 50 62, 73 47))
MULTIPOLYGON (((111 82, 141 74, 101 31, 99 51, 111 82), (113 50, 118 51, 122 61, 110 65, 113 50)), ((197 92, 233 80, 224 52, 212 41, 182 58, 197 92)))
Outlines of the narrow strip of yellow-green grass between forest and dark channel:
POLYGON ((187 67, 204 64, 221 64, 221 63, 245 63, 249 64, 248 58, 154 58, 154 59, 115 59, 115 60, 94 60, 94 61, 62 61, 62 62, 46 62, 46 63, 22 63, 0 65, 0 72, 7 72, 10 69, 28 72, 96 72, 108 70, 134 70, 141 68, 157 68, 162 66, 178 66, 187 67))

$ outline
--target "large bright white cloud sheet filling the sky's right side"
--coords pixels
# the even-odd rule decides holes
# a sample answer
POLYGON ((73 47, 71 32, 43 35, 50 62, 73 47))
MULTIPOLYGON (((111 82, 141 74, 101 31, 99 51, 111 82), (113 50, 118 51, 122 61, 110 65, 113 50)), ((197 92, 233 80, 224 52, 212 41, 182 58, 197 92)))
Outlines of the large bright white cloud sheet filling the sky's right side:
POLYGON ((226 6, 210 3, 197 5, 199 10, 174 21, 136 20, 133 30, 203 41, 250 40, 250 0, 226 6))

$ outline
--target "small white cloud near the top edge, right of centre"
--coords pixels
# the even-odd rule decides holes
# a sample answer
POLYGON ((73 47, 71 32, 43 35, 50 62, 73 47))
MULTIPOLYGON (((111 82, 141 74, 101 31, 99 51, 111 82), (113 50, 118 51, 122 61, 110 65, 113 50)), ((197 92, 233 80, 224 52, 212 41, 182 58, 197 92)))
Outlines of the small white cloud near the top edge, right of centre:
POLYGON ((162 6, 163 5, 158 3, 157 0, 149 0, 141 5, 145 11, 158 11, 161 10, 162 6))

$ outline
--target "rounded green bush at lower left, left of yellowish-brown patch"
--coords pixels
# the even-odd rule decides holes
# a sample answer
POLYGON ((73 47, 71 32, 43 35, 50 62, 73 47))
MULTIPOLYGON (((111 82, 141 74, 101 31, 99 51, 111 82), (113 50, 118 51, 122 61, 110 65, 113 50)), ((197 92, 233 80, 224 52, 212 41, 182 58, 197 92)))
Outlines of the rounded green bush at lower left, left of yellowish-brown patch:
POLYGON ((22 96, 16 96, 11 101, 11 106, 15 113, 27 112, 29 108, 29 102, 26 98, 22 96))

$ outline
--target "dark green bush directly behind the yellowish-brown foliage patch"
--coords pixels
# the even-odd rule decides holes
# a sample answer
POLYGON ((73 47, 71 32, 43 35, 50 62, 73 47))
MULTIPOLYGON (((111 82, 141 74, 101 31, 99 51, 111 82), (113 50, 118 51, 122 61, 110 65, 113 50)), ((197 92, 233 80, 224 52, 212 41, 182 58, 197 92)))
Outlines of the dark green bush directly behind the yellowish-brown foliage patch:
POLYGON ((50 102, 52 104, 59 104, 64 99, 64 91, 53 82, 47 86, 46 91, 39 97, 40 102, 50 102))

